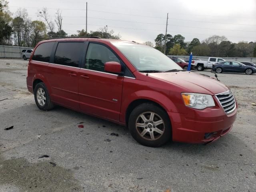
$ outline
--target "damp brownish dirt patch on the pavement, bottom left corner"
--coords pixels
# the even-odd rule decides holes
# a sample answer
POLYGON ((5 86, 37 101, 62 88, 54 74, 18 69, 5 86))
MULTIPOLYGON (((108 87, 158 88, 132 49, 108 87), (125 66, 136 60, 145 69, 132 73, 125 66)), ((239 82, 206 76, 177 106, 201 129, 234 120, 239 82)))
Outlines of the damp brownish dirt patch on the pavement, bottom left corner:
POLYGON ((0 186, 6 186, 6 190, 8 186, 13 186, 20 192, 83 191, 71 170, 54 166, 50 161, 30 163, 25 158, 4 160, 1 154, 0 186))

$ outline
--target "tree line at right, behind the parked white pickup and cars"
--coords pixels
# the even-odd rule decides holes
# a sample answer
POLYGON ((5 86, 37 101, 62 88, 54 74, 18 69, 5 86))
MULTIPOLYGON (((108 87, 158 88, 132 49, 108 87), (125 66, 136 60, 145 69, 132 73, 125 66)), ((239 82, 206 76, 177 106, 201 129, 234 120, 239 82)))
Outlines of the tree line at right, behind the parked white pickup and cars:
MULTIPOLYGON (((194 38, 185 42, 185 37, 178 34, 158 34, 155 39, 155 48, 164 52, 166 38, 166 52, 169 55, 215 56, 215 57, 256 57, 256 42, 240 41, 233 43, 225 36, 213 35, 202 42, 194 38)), ((149 42, 147 42, 149 44, 149 42)))

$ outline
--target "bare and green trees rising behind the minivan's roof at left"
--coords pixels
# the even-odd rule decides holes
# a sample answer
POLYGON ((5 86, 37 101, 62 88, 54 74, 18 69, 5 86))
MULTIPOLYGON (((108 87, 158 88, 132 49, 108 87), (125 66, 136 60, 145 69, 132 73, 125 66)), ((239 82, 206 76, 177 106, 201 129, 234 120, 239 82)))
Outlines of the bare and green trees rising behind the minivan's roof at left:
MULTIPOLYGON (((54 19, 49 15, 47 8, 38 10, 38 18, 41 20, 30 20, 26 9, 19 8, 14 14, 8 9, 8 1, 0 0, 0 44, 34 47, 36 44, 48 38, 66 37, 62 22, 63 16, 60 10, 56 10, 54 19)), ((78 30, 74 36, 98 36, 101 38, 119 39, 120 34, 114 34, 108 26, 96 31, 86 32, 78 30)))

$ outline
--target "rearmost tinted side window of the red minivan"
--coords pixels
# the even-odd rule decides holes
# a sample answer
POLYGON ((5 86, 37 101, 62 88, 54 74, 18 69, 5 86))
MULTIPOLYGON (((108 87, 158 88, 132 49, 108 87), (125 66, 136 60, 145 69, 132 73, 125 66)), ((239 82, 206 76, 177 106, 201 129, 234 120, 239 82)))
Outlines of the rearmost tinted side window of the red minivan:
POLYGON ((36 48, 34 55, 32 57, 32 60, 49 62, 53 45, 54 45, 54 42, 46 42, 46 43, 40 44, 36 48))

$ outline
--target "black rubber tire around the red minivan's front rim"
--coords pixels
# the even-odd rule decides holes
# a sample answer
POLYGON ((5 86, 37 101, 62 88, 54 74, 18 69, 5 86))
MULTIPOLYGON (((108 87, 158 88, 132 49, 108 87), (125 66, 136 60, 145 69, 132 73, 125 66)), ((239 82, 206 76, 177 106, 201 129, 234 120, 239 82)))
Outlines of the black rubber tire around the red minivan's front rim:
MULTIPOLYGON (((150 118, 148 118, 148 119, 150 119, 150 118)), ((145 123, 146 122, 144 122, 144 125, 145 125, 145 123)), ((129 117, 128 127, 129 127, 130 134, 132 135, 132 137, 138 143, 140 143, 144 146, 158 147, 158 146, 165 144, 167 141, 172 140, 172 127, 171 127, 171 123, 170 123, 170 118, 165 110, 163 110, 162 108, 160 108, 158 105, 156 105, 154 103, 143 103, 143 104, 140 104, 139 106, 137 106, 136 108, 134 108, 134 110, 131 112, 130 117, 129 117), (154 114, 153 122, 150 122, 150 120, 148 120, 148 122, 146 124, 146 126, 148 126, 148 127, 144 127, 144 128, 136 126, 136 123, 139 120, 142 120, 140 115, 143 114, 143 115, 145 115, 144 117, 146 117, 146 115, 149 114, 150 112, 152 114, 154 114), (154 120, 156 120, 156 121, 154 121, 154 120), (159 120, 162 120, 163 123, 156 125, 153 128, 154 123, 157 121, 159 122, 159 120), (145 130, 146 130, 146 134, 144 134, 144 136, 141 136, 142 132, 145 130), (162 131, 162 134, 156 132, 155 130, 162 131), (141 133, 139 131, 141 131, 141 133), (154 140, 151 139, 152 138, 151 134, 156 136, 156 138, 153 137, 154 140)))

